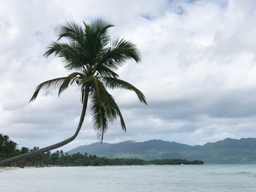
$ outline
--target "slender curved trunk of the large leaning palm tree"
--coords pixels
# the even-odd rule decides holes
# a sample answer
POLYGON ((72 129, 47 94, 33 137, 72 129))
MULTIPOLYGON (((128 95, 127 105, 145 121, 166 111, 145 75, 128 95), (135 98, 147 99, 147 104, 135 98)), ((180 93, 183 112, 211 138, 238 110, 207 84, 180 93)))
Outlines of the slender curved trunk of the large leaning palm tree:
POLYGON ((49 150, 54 150, 58 147, 62 147, 64 145, 68 144, 69 142, 72 142, 72 140, 74 140, 75 137, 78 136, 80 128, 83 125, 83 120, 84 120, 84 117, 86 115, 87 102, 88 102, 88 95, 85 94, 84 99, 83 99, 83 108, 82 108, 82 112, 81 112, 81 115, 80 115, 80 120, 79 120, 79 123, 78 123, 78 128, 76 129, 75 134, 72 137, 69 137, 68 139, 65 139, 62 142, 58 142, 56 144, 49 145, 48 147, 43 147, 39 150, 34 150, 34 151, 29 152, 29 153, 24 153, 24 154, 17 155, 17 156, 12 157, 12 158, 4 159, 4 160, 0 161, 0 166, 8 166, 8 165, 12 164, 13 162, 23 160, 24 158, 31 158, 34 155, 38 155, 39 153, 45 153, 49 150))

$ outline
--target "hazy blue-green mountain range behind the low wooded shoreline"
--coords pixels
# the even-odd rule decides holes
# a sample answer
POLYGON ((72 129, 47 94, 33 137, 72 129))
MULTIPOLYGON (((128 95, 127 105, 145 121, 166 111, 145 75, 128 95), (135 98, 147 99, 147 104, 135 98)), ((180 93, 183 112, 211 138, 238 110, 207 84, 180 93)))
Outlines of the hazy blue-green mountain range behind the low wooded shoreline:
POLYGON ((205 164, 256 164, 256 139, 224 139, 206 145, 184 145, 177 142, 149 140, 146 142, 93 143, 67 153, 88 153, 106 158, 141 158, 145 160, 181 158, 202 160, 205 164))

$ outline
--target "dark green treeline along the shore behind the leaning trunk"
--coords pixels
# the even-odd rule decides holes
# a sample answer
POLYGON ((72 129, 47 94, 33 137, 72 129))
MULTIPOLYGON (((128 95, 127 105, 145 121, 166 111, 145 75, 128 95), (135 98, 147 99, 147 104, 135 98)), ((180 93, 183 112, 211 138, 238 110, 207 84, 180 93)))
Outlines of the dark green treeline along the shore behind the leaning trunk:
MULTIPOLYGON (((37 150, 39 147, 34 147, 29 150, 27 147, 21 147, 8 136, 0 134, 0 160, 10 158, 15 155, 27 153, 37 150)), ((157 159, 152 161, 144 161, 139 158, 105 158, 96 155, 88 155, 75 153, 69 155, 62 150, 57 150, 55 153, 43 153, 33 158, 26 158, 23 161, 15 162, 12 166, 113 166, 113 165, 165 165, 165 164, 203 164, 203 161, 187 161, 182 159, 157 159)))

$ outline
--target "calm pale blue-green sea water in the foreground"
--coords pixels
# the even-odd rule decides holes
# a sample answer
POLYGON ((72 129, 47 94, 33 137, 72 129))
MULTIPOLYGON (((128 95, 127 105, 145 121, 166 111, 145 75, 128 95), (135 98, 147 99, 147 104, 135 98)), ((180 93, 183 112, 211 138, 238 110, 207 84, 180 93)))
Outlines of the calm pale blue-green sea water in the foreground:
POLYGON ((256 165, 76 166, 5 169, 0 191, 256 191, 256 165))

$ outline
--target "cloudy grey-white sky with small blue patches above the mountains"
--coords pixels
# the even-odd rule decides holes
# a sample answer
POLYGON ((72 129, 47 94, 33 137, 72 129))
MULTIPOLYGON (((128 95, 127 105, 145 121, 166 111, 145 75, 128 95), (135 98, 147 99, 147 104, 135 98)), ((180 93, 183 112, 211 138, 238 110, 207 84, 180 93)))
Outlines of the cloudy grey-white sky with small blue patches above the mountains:
MULTIPOLYGON (((19 147, 45 147, 70 137, 80 117, 78 88, 29 103, 45 80, 69 74, 59 58, 43 57, 65 21, 104 18, 110 34, 138 46, 142 61, 128 61, 121 79, 135 93, 111 91, 118 120, 104 142, 163 139, 203 145, 227 137, 256 137, 256 2, 249 0, 0 0, 0 133, 19 147)), ((69 150, 99 142, 86 120, 69 150)))

